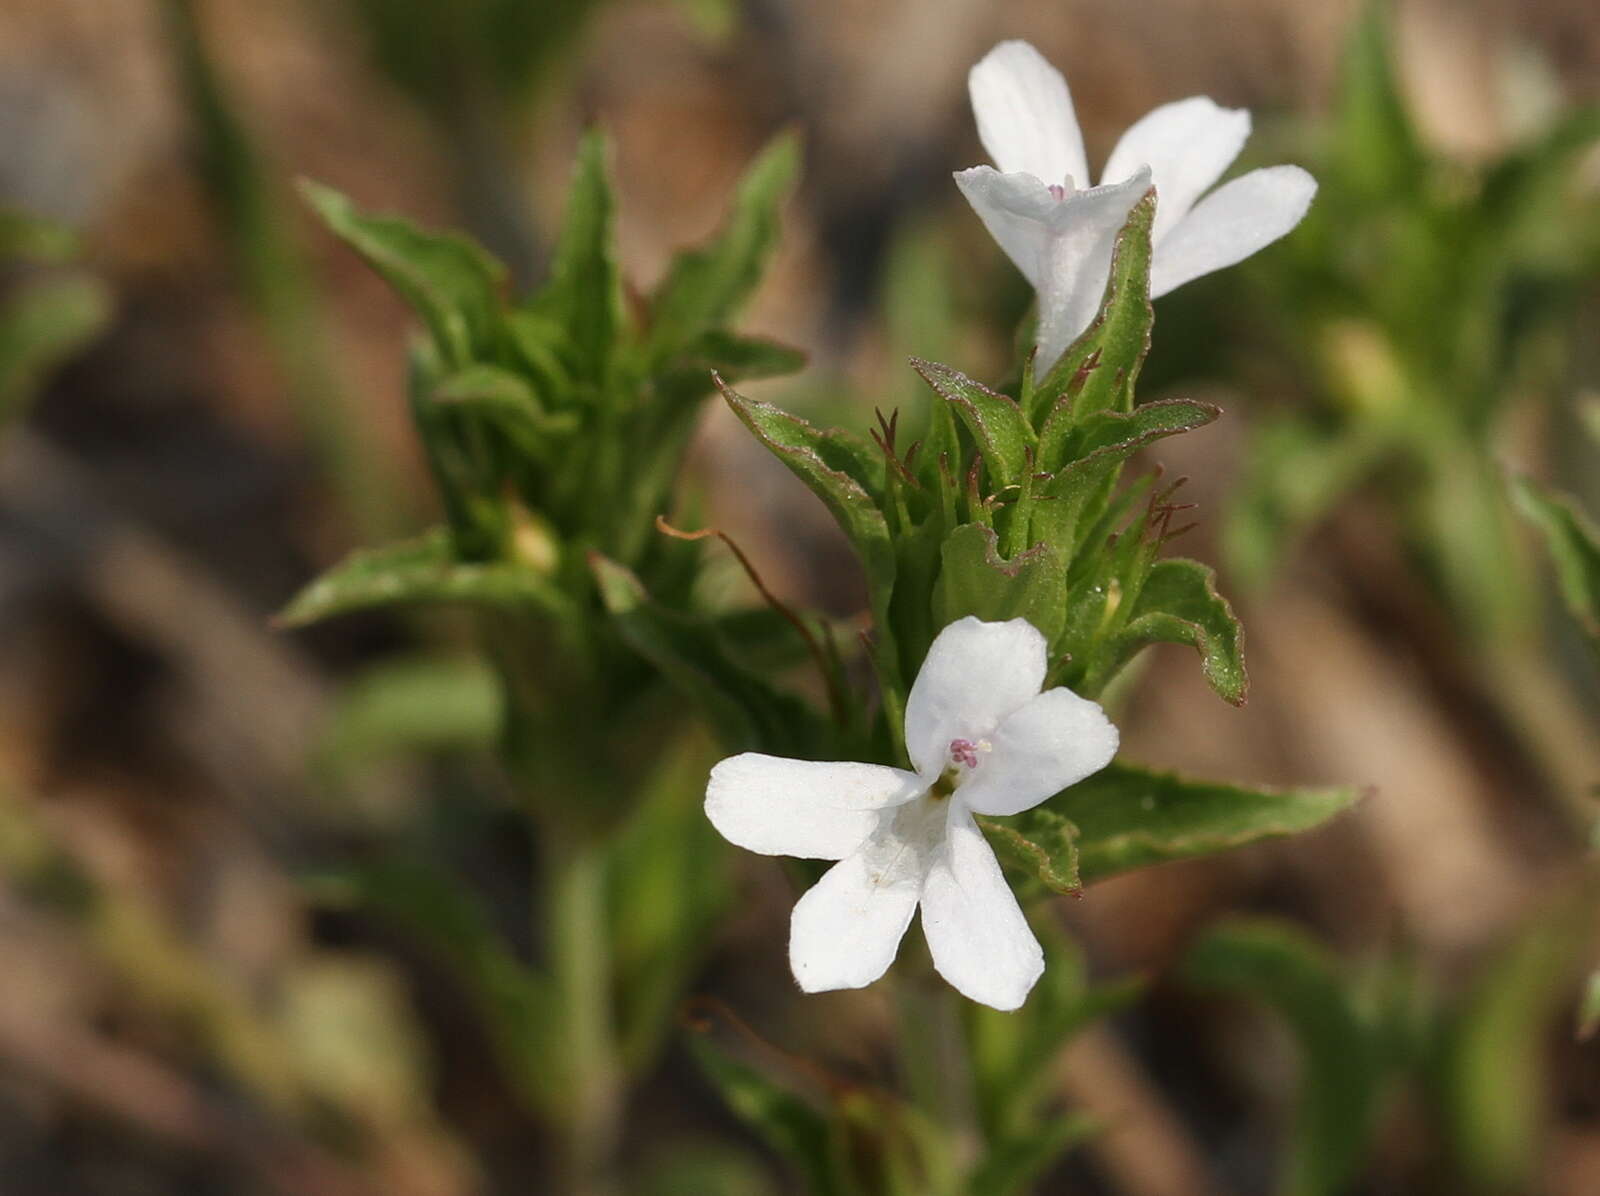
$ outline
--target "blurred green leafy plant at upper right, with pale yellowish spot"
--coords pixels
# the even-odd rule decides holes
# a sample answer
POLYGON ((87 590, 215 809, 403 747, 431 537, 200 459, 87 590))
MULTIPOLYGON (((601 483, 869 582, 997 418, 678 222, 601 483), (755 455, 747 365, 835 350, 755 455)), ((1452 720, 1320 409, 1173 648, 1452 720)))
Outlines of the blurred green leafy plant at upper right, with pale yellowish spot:
POLYGON ((1262 579, 1358 488, 1381 494, 1474 636, 1536 627, 1494 456, 1523 398, 1562 385, 1570 328, 1600 267, 1581 185, 1600 107, 1576 107, 1482 166, 1429 150, 1400 94, 1387 5, 1344 54, 1320 190, 1294 237, 1253 267, 1306 408, 1251 432, 1229 553, 1262 579))

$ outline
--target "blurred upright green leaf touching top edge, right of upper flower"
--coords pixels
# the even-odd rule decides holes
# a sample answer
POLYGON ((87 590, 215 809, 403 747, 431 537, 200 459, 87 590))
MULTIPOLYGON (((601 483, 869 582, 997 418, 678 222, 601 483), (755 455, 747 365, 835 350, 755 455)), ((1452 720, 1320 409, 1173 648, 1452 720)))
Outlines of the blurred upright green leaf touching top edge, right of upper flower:
POLYGON ((1413 193, 1426 166, 1395 78, 1387 13, 1386 0, 1368 0, 1350 29, 1334 120, 1339 182, 1384 198, 1413 193))

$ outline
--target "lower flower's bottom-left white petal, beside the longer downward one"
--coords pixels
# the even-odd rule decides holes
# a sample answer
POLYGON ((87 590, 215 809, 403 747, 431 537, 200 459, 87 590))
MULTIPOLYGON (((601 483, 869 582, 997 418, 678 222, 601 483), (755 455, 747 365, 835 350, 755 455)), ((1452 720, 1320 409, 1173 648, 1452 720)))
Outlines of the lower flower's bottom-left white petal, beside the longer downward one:
POLYGON ((894 963, 917 911, 917 878, 885 884, 861 854, 835 863, 789 919, 789 967, 808 993, 864 988, 894 963))

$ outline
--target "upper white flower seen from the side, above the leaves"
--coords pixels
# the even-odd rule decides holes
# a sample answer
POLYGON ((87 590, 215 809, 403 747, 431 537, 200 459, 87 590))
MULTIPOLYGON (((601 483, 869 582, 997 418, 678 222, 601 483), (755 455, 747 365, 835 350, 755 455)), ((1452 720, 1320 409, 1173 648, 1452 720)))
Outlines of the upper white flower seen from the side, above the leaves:
POLYGON ((1310 206, 1317 182, 1267 166, 1205 190, 1250 138, 1250 114, 1205 96, 1163 104, 1123 133, 1101 185, 1090 179, 1067 80, 1027 42, 1002 42, 968 75, 978 138, 998 169, 958 171, 957 185, 1038 291, 1038 360, 1050 369, 1094 320, 1117 232, 1150 184, 1150 297, 1270 245, 1310 206), (1198 200, 1198 203, 1197 203, 1198 200))

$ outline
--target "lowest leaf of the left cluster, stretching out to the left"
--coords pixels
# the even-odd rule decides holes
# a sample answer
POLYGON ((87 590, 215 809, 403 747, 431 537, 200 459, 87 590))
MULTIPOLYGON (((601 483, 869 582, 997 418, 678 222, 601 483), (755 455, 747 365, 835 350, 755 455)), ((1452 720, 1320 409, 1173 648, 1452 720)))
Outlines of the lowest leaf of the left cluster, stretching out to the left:
POLYGON ((550 577, 514 561, 464 563, 443 529, 403 544, 352 553, 314 580, 277 616, 306 627, 350 611, 405 603, 466 603, 566 619, 573 601, 550 577))

